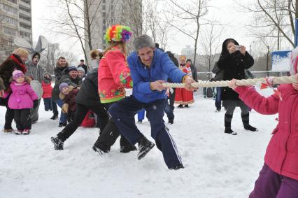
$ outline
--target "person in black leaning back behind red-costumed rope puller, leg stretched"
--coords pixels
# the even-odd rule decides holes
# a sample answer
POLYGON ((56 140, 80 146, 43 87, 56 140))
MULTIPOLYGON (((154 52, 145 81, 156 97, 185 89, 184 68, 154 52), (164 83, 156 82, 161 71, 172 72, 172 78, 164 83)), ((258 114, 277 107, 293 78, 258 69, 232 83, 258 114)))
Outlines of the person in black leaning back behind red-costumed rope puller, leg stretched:
POLYGON ((94 68, 87 73, 87 77, 83 81, 82 87, 76 95, 76 112, 73 115, 73 120, 59 132, 57 136, 52 137, 55 150, 63 150, 63 144, 83 122, 88 111, 93 111, 100 118, 100 130, 102 131, 108 123, 108 113, 101 104, 98 94, 98 69, 94 68))

